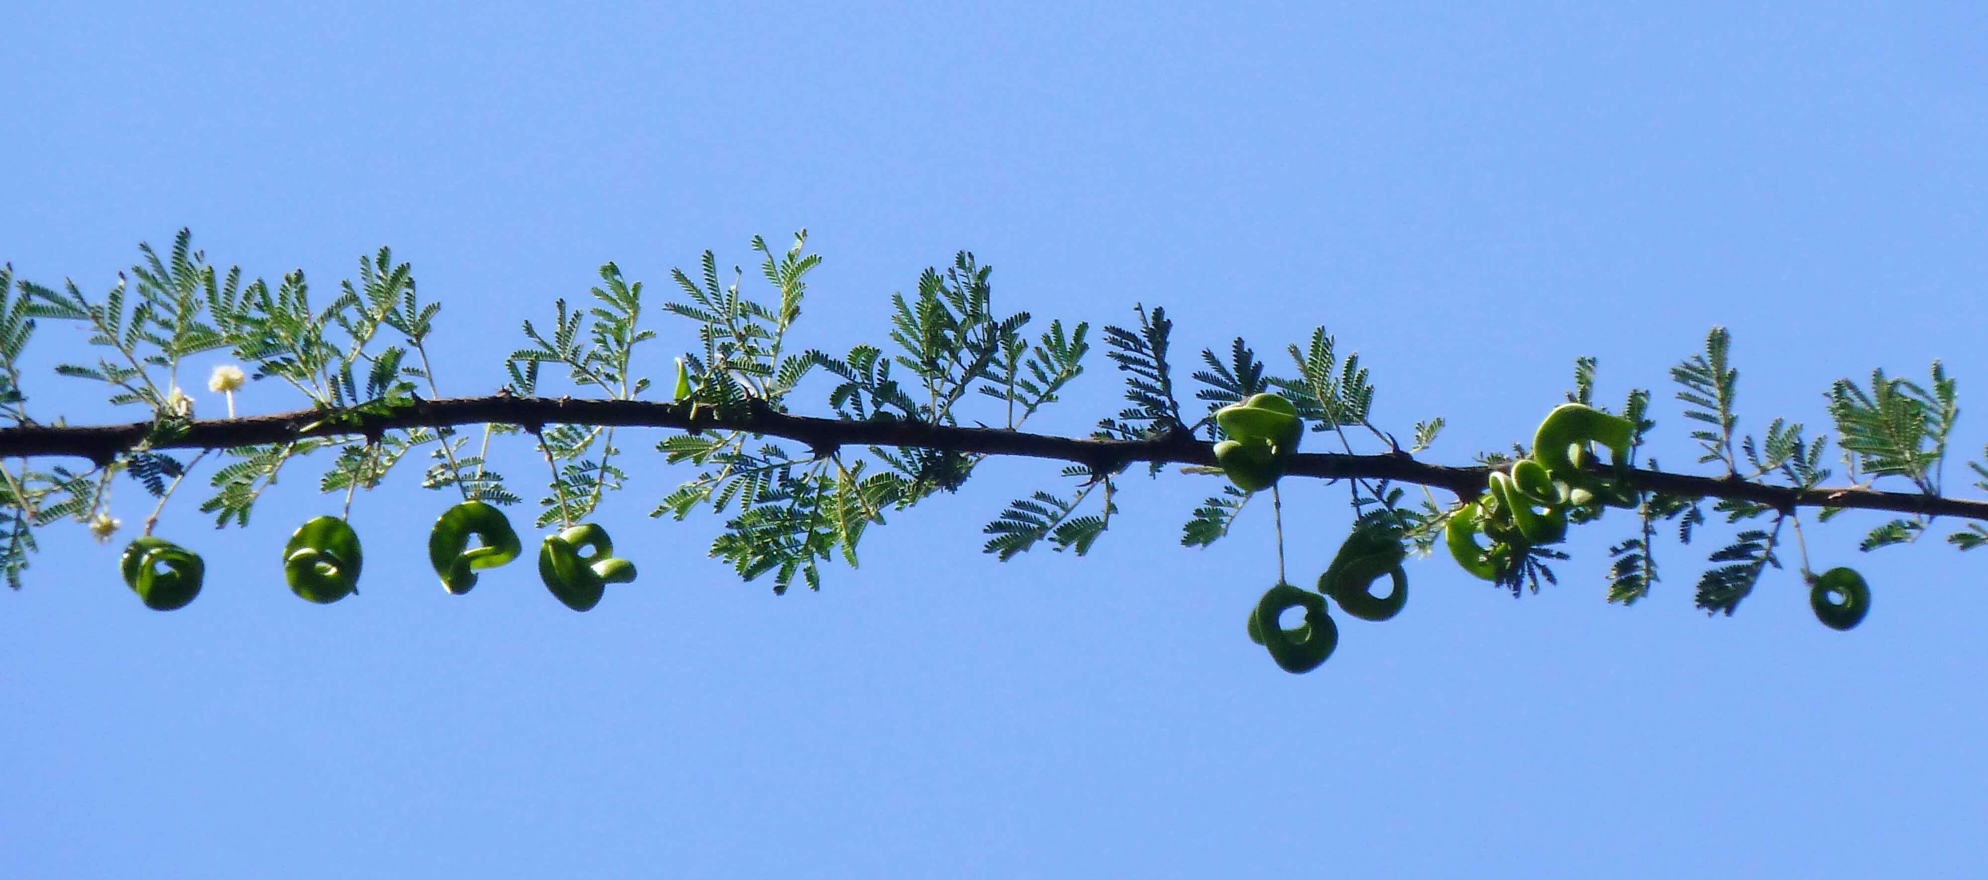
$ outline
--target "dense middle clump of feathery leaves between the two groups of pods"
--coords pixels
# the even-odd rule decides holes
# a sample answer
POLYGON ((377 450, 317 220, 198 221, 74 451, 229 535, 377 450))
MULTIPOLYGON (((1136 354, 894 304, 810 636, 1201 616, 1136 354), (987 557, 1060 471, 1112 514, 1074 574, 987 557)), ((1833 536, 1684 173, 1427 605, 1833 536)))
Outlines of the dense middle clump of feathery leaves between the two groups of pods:
MULTIPOLYGON (((702 356, 686 356, 696 379, 692 407, 738 411, 765 405, 785 411, 785 399, 801 377, 821 367, 835 379, 829 409, 845 419, 958 425, 958 409, 978 389, 978 397, 1004 405, 1008 427, 1018 427, 1054 403, 1083 371, 1089 326, 1066 330, 1062 322, 1052 322, 1030 344, 1022 336, 1030 316, 998 314, 992 266, 978 264, 964 250, 944 272, 926 268, 914 298, 893 296, 891 340, 899 354, 865 344, 843 358, 819 350, 785 356, 785 334, 801 314, 801 278, 819 264, 819 256, 801 256, 803 240, 795 236, 785 256, 753 240, 763 254, 761 274, 779 288, 777 306, 742 294, 738 282, 720 286, 710 252, 702 258, 702 284, 680 270, 674 274, 690 302, 664 308, 698 322, 704 340, 702 356)), ((909 509, 938 491, 956 491, 980 461, 950 449, 883 447, 869 447, 869 459, 845 451, 795 457, 779 445, 753 445, 747 431, 686 433, 666 437, 658 449, 670 463, 692 463, 704 471, 664 497, 652 516, 684 518, 702 505, 714 513, 736 505, 738 514, 726 520, 726 534, 712 542, 712 554, 732 562, 747 580, 773 574, 775 592, 785 592, 795 578, 819 588, 819 562, 837 552, 855 566, 857 542, 871 524, 885 522, 887 511, 909 509)), ((1087 493, 1081 491, 1072 505, 1087 493)), ((1103 532, 1109 514, 1072 516, 1074 507, 1062 513, 1040 536, 1079 554, 1103 532)), ((988 528, 1026 526, 1004 514, 988 528)), ((1010 558, 1030 544, 1034 540, 990 552, 1010 558)))

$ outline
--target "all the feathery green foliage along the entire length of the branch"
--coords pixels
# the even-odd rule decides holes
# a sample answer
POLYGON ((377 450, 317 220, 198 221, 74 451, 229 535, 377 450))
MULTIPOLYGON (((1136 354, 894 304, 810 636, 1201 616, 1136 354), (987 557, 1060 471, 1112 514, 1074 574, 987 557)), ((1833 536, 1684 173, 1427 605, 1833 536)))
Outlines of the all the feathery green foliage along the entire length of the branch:
MULTIPOLYGON (((1044 332, 1026 334, 1030 314, 996 310, 992 268, 964 250, 944 268, 922 270, 912 294, 891 298, 885 346, 857 344, 841 356, 805 348, 793 332, 803 314, 807 276, 821 264, 819 254, 805 250, 805 230, 779 252, 763 238, 751 240, 757 278, 769 286, 767 294, 744 290, 746 272, 738 266, 732 268, 730 280, 724 278, 718 258, 706 250, 698 258, 696 272, 672 270, 680 298, 662 304, 662 314, 688 322, 684 338, 690 342, 694 334, 694 342, 678 360, 682 387, 672 383, 670 399, 654 403, 670 413, 666 423, 690 429, 660 439, 656 449, 668 463, 688 465, 694 475, 664 493, 652 516, 670 514, 680 520, 710 509, 722 518, 722 530, 710 546, 712 556, 726 560, 746 580, 771 576, 775 592, 785 592, 793 582, 819 588, 823 562, 841 558, 857 566, 861 538, 873 524, 885 524, 887 514, 909 511, 938 493, 966 485, 988 453, 976 451, 978 441, 960 437, 992 433, 948 429, 976 425, 1018 431, 1038 411, 1070 393, 1083 375, 1083 360, 1091 348, 1087 322, 1052 320, 1044 332), (857 449, 785 431, 817 445, 793 451, 771 441, 777 429, 761 429, 793 423, 781 419, 781 413, 795 407, 791 397, 803 391, 803 381, 817 367, 823 371, 825 381, 819 387, 825 391, 829 411, 849 421, 891 423, 895 427, 885 433, 901 431, 907 439, 897 439, 899 445, 857 449), (924 445, 922 437, 944 439, 924 445)), ((503 360, 511 395, 541 397, 571 391, 592 399, 636 401, 650 389, 646 375, 650 367, 642 356, 652 348, 646 344, 658 340, 660 330, 644 324, 644 318, 652 318, 644 314, 644 284, 626 278, 614 262, 600 266, 598 278, 579 304, 561 298, 549 320, 523 322, 523 344, 503 360), (565 385, 549 391, 547 385, 557 379, 565 379, 565 385)), ((584 522, 598 514, 608 493, 628 487, 628 473, 618 459, 622 449, 616 445, 616 427, 499 423, 485 425, 481 439, 457 425, 388 427, 396 421, 414 421, 408 415, 423 411, 419 393, 427 399, 443 397, 427 354, 427 342, 437 330, 439 304, 419 300, 412 266, 396 262, 388 248, 362 256, 356 276, 342 280, 328 302, 314 302, 312 296, 302 270, 270 284, 260 278, 248 280, 239 268, 217 268, 193 248, 187 230, 181 230, 165 252, 141 244, 137 264, 101 296, 85 294, 74 282, 64 282, 60 288, 34 284, 16 278, 12 266, 0 268, 0 423, 42 425, 30 415, 28 381, 20 369, 22 352, 42 320, 76 322, 87 332, 91 356, 56 366, 56 375, 97 383, 109 403, 141 405, 149 411, 145 429, 131 431, 133 439, 123 441, 127 449, 101 445, 83 449, 93 459, 87 471, 40 469, 30 467, 30 461, 0 463, 0 572, 8 584, 20 586, 40 526, 76 518, 89 522, 99 538, 109 538, 117 526, 117 518, 109 514, 111 485, 117 475, 127 475, 141 487, 147 505, 157 503, 153 516, 145 520, 147 532, 165 503, 195 473, 203 473, 213 489, 201 511, 215 514, 215 522, 223 526, 247 524, 254 503, 278 483, 284 467, 318 451, 330 451, 318 473, 318 489, 344 493, 348 511, 360 489, 380 487, 410 455, 415 461, 425 459, 421 485, 427 489, 453 489, 465 505, 519 505, 523 497, 503 475, 487 467, 491 441, 509 443, 517 433, 531 433, 547 463, 545 491, 537 497, 537 526, 557 526, 555 538, 571 544, 561 548, 555 542, 549 544, 551 550, 541 552, 541 576, 547 576, 547 570, 565 572, 559 578, 547 576, 555 596, 569 606, 590 608, 598 600, 598 584, 632 578, 632 562, 608 556, 604 530, 584 522), (169 447, 195 429, 193 401, 179 375, 181 366, 185 358, 221 350, 233 352, 254 379, 280 379, 274 385, 288 385, 310 405, 296 417, 296 433, 284 441, 201 451, 191 457, 175 453, 169 447), (219 467, 211 473, 199 471, 211 453, 219 467), (582 556, 580 548, 592 548, 594 554, 582 556)), ((1676 399, 1684 403, 1682 415, 1700 425, 1690 433, 1700 447, 1700 463, 1724 465, 1720 479, 1694 483, 1680 481, 1678 475, 1632 473, 1638 451, 1658 425, 1650 411, 1650 391, 1630 389, 1620 419, 1592 409, 1598 362, 1582 356, 1574 362, 1574 383, 1567 399, 1586 407, 1573 409, 1588 419, 1588 433, 1567 443, 1541 439, 1559 435, 1535 437, 1535 445, 1573 447, 1573 451, 1527 453, 1513 447, 1519 459, 1503 451, 1477 453, 1477 461, 1497 469, 1489 477, 1489 493, 1471 493, 1469 485, 1463 485, 1467 497, 1449 503, 1447 495, 1439 499, 1433 491, 1408 501, 1402 487, 1378 477, 1398 477, 1408 469, 1409 475, 1421 475, 1409 479, 1431 489, 1457 489, 1463 483, 1457 471, 1409 459, 1411 453, 1431 447, 1445 419, 1429 417, 1415 423, 1411 447, 1404 451, 1392 433, 1372 421, 1376 381, 1370 369, 1360 364, 1358 354, 1342 358, 1336 338, 1326 328, 1314 328, 1306 340, 1288 344, 1294 369, 1290 375, 1270 373, 1270 367, 1256 358, 1256 350, 1241 338, 1235 338, 1223 354, 1213 348, 1201 350, 1203 367, 1191 373, 1197 381, 1193 399, 1205 401, 1209 413, 1187 421, 1173 381, 1175 326, 1157 306, 1153 310, 1135 306, 1135 318, 1129 328, 1103 326, 1099 334, 1105 358, 1125 377, 1123 395, 1129 405, 1097 423, 1097 431, 1089 437, 1095 441, 1093 447, 1087 449, 1077 441, 1079 453, 1070 451, 1072 439, 1038 437, 1046 443, 1064 443, 1054 447, 1058 449, 1054 455, 1079 461, 1062 471, 1064 479, 1077 483, 1066 483, 1062 489, 1024 489, 984 526, 988 554, 1010 560, 1040 544, 1072 550, 1077 556, 1087 554, 1119 513, 1117 475, 1125 469, 1121 457, 1127 453, 1111 441, 1147 441, 1133 449, 1135 459, 1207 461, 1183 455, 1183 449, 1187 453, 1193 449, 1181 445, 1227 437, 1237 443, 1231 443, 1229 451, 1217 449, 1217 461, 1235 467, 1246 455, 1235 449, 1241 445, 1239 437, 1229 435, 1246 433, 1252 421, 1239 419, 1237 411, 1227 409, 1225 425, 1213 413, 1258 393, 1276 395, 1264 401, 1288 403, 1278 409, 1284 419, 1278 425, 1290 443, 1280 441, 1276 455, 1282 459, 1262 469, 1258 473, 1262 479, 1246 483, 1250 489, 1278 485, 1278 477, 1292 461, 1288 455, 1296 437, 1328 433, 1336 437, 1340 451, 1370 455, 1334 459, 1338 465, 1352 463, 1356 473, 1326 483, 1332 491, 1338 491, 1334 483, 1344 483, 1356 518, 1352 538, 1342 546, 1342 558, 1362 556, 1356 550, 1376 550, 1372 556, 1378 558, 1380 548, 1388 550, 1388 558, 1409 550, 1427 554, 1439 540, 1451 538, 1447 526, 1457 522, 1459 530, 1451 544, 1457 560, 1513 594, 1527 588, 1537 592, 1543 582, 1557 584, 1549 564, 1569 556, 1541 544, 1557 544, 1565 524, 1594 522, 1616 509, 1632 511, 1636 526, 1608 546, 1610 602, 1634 604, 1652 592, 1660 582, 1656 560, 1664 530, 1660 524, 1676 522, 1678 540, 1684 544, 1706 534, 1706 528, 1734 530, 1710 554, 1710 570, 1698 578, 1696 590, 1698 608, 1708 614, 1732 614, 1761 584, 1769 566, 1781 566, 1777 552, 1783 524, 1793 522, 1797 536, 1801 534, 1799 507, 1815 505, 1817 495, 1795 493, 1819 491, 1831 479, 1831 471, 1823 467, 1827 435, 1805 435, 1801 423, 1783 417, 1771 419, 1759 437, 1738 435, 1740 373, 1732 364, 1732 334, 1724 328, 1714 328, 1702 352, 1670 369, 1678 383, 1676 399), (1624 421, 1632 427, 1626 435, 1624 421), (1306 425, 1310 431, 1304 431, 1306 425), (1598 429, 1592 425, 1606 427, 1608 439, 1596 435, 1598 429), (1582 451, 1590 441, 1600 441, 1614 453, 1618 459, 1614 471, 1606 475, 1594 471, 1592 455, 1582 451), (1368 469, 1360 471, 1362 467, 1368 469), (1541 477, 1533 477, 1535 473, 1541 477), (1704 495, 1680 495, 1680 485, 1704 495), (1652 491, 1654 487, 1666 491, 1652 491), (1712 499, 1710 511, 1706 511, 1708 499, 1712 499), (1467 520, 1457 518, 1463 511, 1469 511, 1467 520), (1724 522, 1708 526, 1708 513, 1724 522), (1763 516, 1773 516, 1773 524, 1759 522, 1763 516), (1473 530, 1463 530, 1463 524, 1471 524, 1473 530), (1380 532, 1386 532, 1386 540, 1374 538, 1380 532), (1493 546, 1475 544, 1473 534, 1489 536, 1493 546), (1469 546, 1463 546, 1463 538, 1469 538, 1469 546)), ((1926 385, 1889 377, 1879 369, 1873 371, 1869 387, 1847 379, 1835 381, 1827 399, 1837 445, 1853 481, 1847 489, 1863 489, 1857 485, 1859 479, 1877 483, 1891 477, 1910 481, 1918 489, 1916 495, 1942 497, 1942 465, 1958 405, 1956 385, 1938 362, 1932 364, 1926 385)), ((1242 409, 1256 407, 1250 417, 1258 423, 1274 421, 1262 417, 1268 403, 1258 403, 1242 409)), ((60 417, 56 423, 60 425, 60 417)), ((1658 471, 1654 459, 1644 465, 1648 471, 1658 471)), ((1988 491, 1988 465, 1968 467, 1980 477, 1974 487, 1988 491)), ((1159 471, 1161 463, 1153 461, 1149 473, 1159 471)), ((1209 467, 1185 471, 1195 477, 1225 473, 1209 467)), ((1242 469, 1227 473, 1237 479, 1242 469)), ((1473 471, 1469 479, 1477 481, 1483 475, 1485 471, 1473 471)), ((1246 518, 1250 497, 1225 481, 1191 511, 1181 530, 1181 544, 1209 546, 1239 526, 1250 526, 1246 518)), ((1861 495, 1855 505, 1873 507, 1873 497, 1861 495)), ((1877 499, 1877 507, 1887 507, 1883 497, 1877 499)), ((1914 542, 1932 526, 1932 516, 1920 511, 1952 509, 1897 499, 1889 507, 1905 516, 1891 516, 1873 526, 1859 542, 1863 550, 1914 542)), ((483 507, 471 509, 483 511, 483 507)), ((1262 505, 1254 511, 1262 511, 1262 505)), ((1280 503, 1270 505, 1270 511, 1272 516, 1282 516, 1280 503)), ((1829 520, 1837 513, 1841 509, 1825 507, 1815 518, 1829 520)), ((495 516, 503 520, 503 514, 495 516)), ((336 530, 332 522, 342 526, 344 520, 320 516, 314 522, 324 530, 336 530)), ((1282 520, 1276 528, 1282 542, 1282 520)), ((141 540, 145 552, 165 546, 161 538, 149 534, 141 540)), ((1948 532, 1946 540, 1962 550, 1976 548, 1988 544, 1988 526, 1966 522, 1948 532)), ((505 546, 509 548, 509 542, 505 546)), ((467 580, 455 574, 465 574, 469 568, 465 562, 463 570, 455 572, 457 560, 465 552, 489 550, 469 550, 467 532, 443 540, 441 548, 445 552, 437 556, 441 558, 437 572, 447 568, 459 584, 467 580)), ((1807 548, 1801 550, 1801 570, 1809 574, 1807 548)), ((352 552, 356 554, 356 544, 352 552)), ((1282 548, 1278 552, 1276 570, 1282 584, 1286 574, 1282 548)), ((515 550, 499 552, 505 554, 515 550)), ((356 568, 356 556, 350 562, 348 568, 356 568)), ((1336 564, 1346 562, 1336 558, 1336 564)), ((1364 576, 1374 572, 1394 570, 1368 566, 1360 572, 1362 578, 1354 580, 1372 584, 1378 576, 1364 576)), ((1839 566, 1833 572, 1847 568, 1839 566)), ((294 574, 308 580, 310 572, 298 568, 294 574)), ((163 576, 153 572, 153 580, 163 576)), ((1318 652, 1330 652, 1326 640, 1330 618, 1324 616, 1322 604, 1302 596, 1304 590, 1296 594, 1290 590, 1296 588, 1282 584, 1280 590, 1272 590, 1278 596, 1272 596, 1270 604, 1304 606, 1314 612, 1320 642, 1310 652, 1316 656, 1294 654, 1300 644, 1310 644, 1308 636, 1300 640, 1296 630, 1268 636, 1262 620, 1252 618, 1252 622, 1266 642, 1282 644, 1280 663, 1316 665, 1316 660, 1322 660, 1318 652)), ((1392 606, 1378 604, 1392 600, 1356 596, 1344 586, 1334 590, 1346 594, 1342 610, 1350 610, 1346 602, 1354 602, 1366 608, 1368 616, 1392 614, 1392 606)), ((336 598, 332 592, 338 590, 306 592, 336 598)), ((171 602, 161 598, 159 604, 171 602)), ((1863 604, 1857 604, 1857 614, 1863 614, 1863 604)))

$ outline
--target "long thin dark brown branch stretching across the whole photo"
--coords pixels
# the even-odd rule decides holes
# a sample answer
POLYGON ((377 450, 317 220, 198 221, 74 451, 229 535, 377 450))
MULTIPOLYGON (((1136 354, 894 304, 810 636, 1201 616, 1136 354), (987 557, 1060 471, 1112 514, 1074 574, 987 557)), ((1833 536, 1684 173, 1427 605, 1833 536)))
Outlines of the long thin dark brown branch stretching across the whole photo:
MULTIPOLYGON (((1185 431, 1173 431, 1157 439, 1143 441, 1054 437, 998 427, 946 427, 901 419, 819 419, 809 415, 777 413, 767 409, 763 403, 714 411, 704 405, 692 409, 686 403, 513 397, 497 393, 489 397, 449 397, 437 401, 417 399, 412 407, 394 415, 366 415, 360 419, 362 421, 358 425, 330 423, 326 421, 326 413, 316 409, 243 419, 201 419, 183 423, 183 431, 173 433, 169 439, 153 441, 151 447, 223 449, 284 443, 300 437, 378 437, 382 431, 408 427, 501 423, 535 429, 543 425, 573 423, 666 427, 680 431, 751 431, 807 443, 807 447, 817 455, 827 455, 845 445, 879 445, 952 449, 974 455, 1058 459, 1089 465, 1101 471, 1115 471, 1131 463, 1147 461, 1167 465, 1215 465, 1213 447, 1185 431)), ((149 433, 153 433, 153 423, 147 421, 133 421, 129 425, 18 425, 0 429, 0 457, 74 455, 101 465, 115 459, 123 451, 135 449, 149 433)), ((1324 479, 1386 479, 1447 489, 1459 497, 1477 497, 1477 493, 1485 487, 1489 469, 1431 465, 1415 461, 1415 457, 1408 453, 1300 453, 1292 457, 1286 473, 1294 477, 1324 479)), ((1640 469, 1628 471, 1626 479, 1638 489, 1686 497, 1751 501, 1777 511, 1793 511, 1797 507, 1843 507, 1988 520, 1988 501, 1948 499, 1922 493, 1881 493, 1859 487, 1797 491, 1734 477, 1694 477, 1684 473, 1640 469)))

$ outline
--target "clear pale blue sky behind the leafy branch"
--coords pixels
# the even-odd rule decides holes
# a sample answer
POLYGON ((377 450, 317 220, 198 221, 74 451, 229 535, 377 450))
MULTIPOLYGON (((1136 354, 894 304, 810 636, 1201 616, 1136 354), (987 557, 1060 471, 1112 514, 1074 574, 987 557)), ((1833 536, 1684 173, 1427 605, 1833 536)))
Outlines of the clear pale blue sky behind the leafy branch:
MULTIPOLYGON (((1282 348, 1324 326, 1374 369, 1384 427, 1449 419, 1427 453, 1449 463, 1529 439, 1592 354, 1610 405, 1656 391, 1654 451, 1686 467, 1668 367, 1722 324, 1753 433, 1825 427, 1837 377, 1944 360, 1966 411, 1946 481, 1978 495, 1976 4, 201 6, 8 10, 0 258, 20 276, 101 294, 139 240, 191 226, 223 266, 330 290, 392 244, 443 302, 443 391, 487 393, 519 322, 584 296, 598 264, 660 304, 704 248, 751 278, 753 234, 805 226, 825 256, 805 346, 885 342, 891 292, 970 248, 996 306, 1038 326, 1161 304, 1183 356, 1241 334, 1284 371, 1282 348)), ((656 330, 642 366, 662 381, 696 342, 656 330)), ((34 358, 82 340, 44 322, 34 358)), ((827 387, 801 405, 827 411, 827 387)), ((38 371, 28 393, 44 417, 111 417, 78 379, 38 371)), ((1030 425, 1087 433, 1119 393, 1093 352, 1030 425)), ((199 405, 223 411, 205 389, 199 405)), ((262 383, 241 405, 302 399, 262 383)), ((26 588, 0 596, 0 874, 1823 878, 1988 860, 1988 556, 1946 546, 1948 522, 1863 558, 1877 516, 1809 520, 1817 568, 1873 582, 1851 634, 1813 620, 1793 572, 1708 620, 1692 584, 1714 540, 1660 544, 1666 580, 1608 606, 1602 548, 1632 530, 1612 514, 1537 596, 1417 560, 1400 618, 1340 616, 1338 654, 1286 675, 1242 634, 1274 580, 1268 511, 1179 546, 1209 477, 1129 475, 1087 558, 1002 564, 980 526, 1062 481, 990 463, 891 516, 863 568, 775 598, 706 556, 708 514, 648 516, 688 477, 654 439, 624 437, 634 481, 600 516, 642 576, 590 614, 529 564, 447 596, 423 540, 451 495, 419 489, 419 463, 358 501, 364 594, 336 606, 296 600, 278 566, 342 501, 316 493, 324 461, 248 528, 215 532, 205 485, 173 501, 159 534, 209 564, 173 614, 115 574, 149 511, 137 485, 113 493, 111 546, 44 530, 26 588)), ((541 471, 511 447, 535 499, 541 471)), ((1286 501, 1292 566, 1318 572, 1344 489, 1286 501)))

